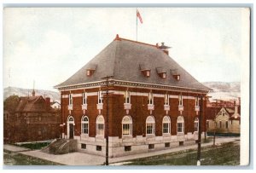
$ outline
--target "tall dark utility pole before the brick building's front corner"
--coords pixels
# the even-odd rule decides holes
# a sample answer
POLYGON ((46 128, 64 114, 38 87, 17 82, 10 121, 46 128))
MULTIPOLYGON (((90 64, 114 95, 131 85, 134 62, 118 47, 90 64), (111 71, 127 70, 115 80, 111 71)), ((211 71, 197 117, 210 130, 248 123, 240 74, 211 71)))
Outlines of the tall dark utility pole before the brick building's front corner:
POLYGON ((109 112, 108 112, 108 87, 109 87, 109 78, 113 78, 113 76, 107 76, 107 77, 104 77, 103 79, 106 79, 106 95, 107 95, 107 119, 106 119, 106 162, 105 162, 105 165, 108 165, 108 123, 109 123, 109 120, 108 120, 108 117, 109 117, 109 112))

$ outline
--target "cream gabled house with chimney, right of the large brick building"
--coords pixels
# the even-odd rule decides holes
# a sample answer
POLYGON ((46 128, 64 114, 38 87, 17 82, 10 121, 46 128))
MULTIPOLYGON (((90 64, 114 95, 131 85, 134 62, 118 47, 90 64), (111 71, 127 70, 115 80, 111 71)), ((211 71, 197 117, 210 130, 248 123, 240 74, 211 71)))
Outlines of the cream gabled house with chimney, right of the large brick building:
POLYGON ((218 135, 230 136, 240 134, 240 106, 235 107, 207 107, 207 134, 215 131, 218 135))

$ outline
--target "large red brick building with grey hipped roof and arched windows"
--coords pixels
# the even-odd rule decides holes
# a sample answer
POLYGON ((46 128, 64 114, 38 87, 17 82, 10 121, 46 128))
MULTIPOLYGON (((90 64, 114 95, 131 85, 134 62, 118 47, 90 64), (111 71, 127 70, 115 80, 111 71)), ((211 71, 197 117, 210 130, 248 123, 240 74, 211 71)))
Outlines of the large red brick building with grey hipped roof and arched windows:
POLYGON ((205 97, 210 89, 172 60, 168 49, 164 43, 152 45, 117 35, 72 77, 56 85, 61 92, 62 137, 77 139, 81 152, 105 155, 109 136, 109 157, 197 140, 199 113, 206 122, 205 97))

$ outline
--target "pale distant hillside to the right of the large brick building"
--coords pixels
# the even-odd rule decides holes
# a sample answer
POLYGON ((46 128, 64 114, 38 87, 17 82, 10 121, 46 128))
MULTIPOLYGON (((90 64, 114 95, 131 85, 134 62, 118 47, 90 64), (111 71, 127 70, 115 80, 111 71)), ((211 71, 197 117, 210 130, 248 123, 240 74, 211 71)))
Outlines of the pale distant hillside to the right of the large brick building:
POLYGON ((241 96, 240 94, 240 82, 224 83, 224 82, 206 82, 202 83, 213 89, 209 96, 212 96, 210 100, 221 99, 224 101, 234 100, 241 96))

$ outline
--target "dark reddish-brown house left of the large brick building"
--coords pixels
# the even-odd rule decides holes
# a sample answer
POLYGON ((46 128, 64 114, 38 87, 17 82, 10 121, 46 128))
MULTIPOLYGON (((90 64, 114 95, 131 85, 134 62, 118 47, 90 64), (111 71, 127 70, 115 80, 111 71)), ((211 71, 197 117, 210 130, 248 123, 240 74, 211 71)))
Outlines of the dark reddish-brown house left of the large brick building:
POLYGON ((3 106, 4 142, 44 141, 60 137, 60 114, 42 95, 11 95, 3 106))

